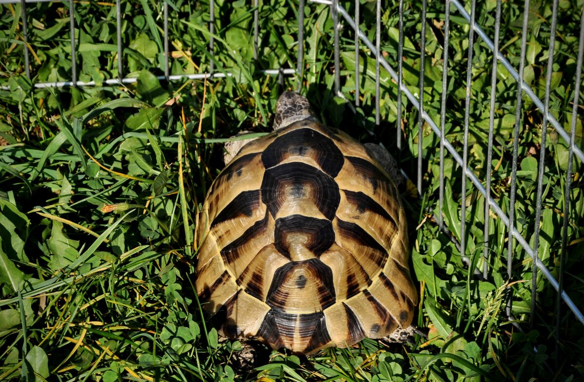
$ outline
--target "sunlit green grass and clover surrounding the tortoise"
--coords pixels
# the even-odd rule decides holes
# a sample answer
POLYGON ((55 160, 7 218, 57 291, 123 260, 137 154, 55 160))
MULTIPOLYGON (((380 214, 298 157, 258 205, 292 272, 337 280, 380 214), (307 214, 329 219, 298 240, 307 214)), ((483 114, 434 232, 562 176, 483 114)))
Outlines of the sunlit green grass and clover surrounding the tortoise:
MULTIPOLYGON (((439 121, 442 96, 443 5, 430 1, 426 33, 425 107, 439 121)), ((543 96, 550 39, 550 2, 532 1, 524 79, 543 96)), ((23 74, 20 6, 0 12, 0 380, 203 380, 203 381, 453 381, 584 378, 583 327, 564 306, 558 350, 556 294, 537 277, 536 314, 530 328, 531 261, 515 243, 513 279, 506 282, 507 231, 489 216, 489 277, 480 280, 484 249, 484 197, 467 187, 446 158, 444 221, 460 241, 460 204, 467 203, 463 262, 449 235, 439 232, 439 140, 423 126, 423 186, 406 196, 412 271, 421 301, 416 323, 430 339, 387 347, 366 339, 351 349, 326 349, 308 359, 265 349, 256 369, 230 366, 238 341, 220 341, 204 321, 192 291, 197 211, 221 171, 224 138, 239 130, 270 131, 276 98, 296 89, 295 77, 266 77, 256 70, 295 68, 297 6, 267 0, 260 7, 260 54, 253 61, 249 2, 217 2, 215 51, 208 2, 175 0, 169 39, 172 74, 207 71, 234 76, 208 81, 159 82, 162 2, 122 1, 124 72, 128 86, 34 89, 23 74), (22 91, 18 89, 22 88, 22 91), (184 117, 183 117, 184 116, 184 117), (470 265, 469 265, 470 263, 470 265), (508 290, 523 332, 504 314, 508 290), (534 352, 534 348, 537 352, 534 352), (263 378, 263 379, 262 379, 263 378)), ((341 4, 352 9, 353 2, 341 4)), ((374 37, 374 2, 361 2, 362 29, 374 37)), ((478 2, 477 22, 493 35, 495 1, 478 2)), ((523 2, 503 3, 502 52, 519 67, 523 2)), ((419 92, 419 2, 405 4, 404 81, 419 92)), ((559 2, 551 113, 569 130, 582 0, 559 2)), ((397 68, 397 4, 383 14, 382 48, 397 68)), ((34 81, 70 78, 68 3, 30 4, 29 40, 34 81)), ((116 17, 109 2, 76 2, 81 81, 117 77, 116 17), (80 20, 83 20, 81 23, 80 20)), ((351 12, 351 11, 349 11, 351 12)), ((453 10, 449 60, 447 137, 461 152, 468 26, 453 10)), ((302 93, 319 117, 362 141, 395 149, 397 89, 382 70, 381 117, 374 123, 374 59, 361 53, 361 107, 353 114, 333 89, 329 9, 305 8, 305 77, 302 93), (370 134, 373 133, 373 134, 370 134)), ((477 41, 477 40, 475 40, 477 41)), ((341 81, 354 93, 353 33, 341 34, 341 81)), ((493 163, 486 164, 492 53, 474 45, 469 166, 479 179, 492 172, 493 197, 509 206, 516 84, 499 65, 493 163)), ((582 89, 580 89, 581 91, 582 89)), ((582 95, 580 94, 580 103, 582 95)), ((402 168, 416 176, 418 113, 404 102, 402 168)), ((582 113, 576 145, 584 147, 582 113)), ((517 228, 529 241, 535 225, 541 113, 524 97, 517 180, 517 228)), ((567 144, 547 131, 540 259, 559 272, 567 144)), ((565 288, 584 307, 584 196, 582 163, 575 159, 568 224, 565 288)), ((531 239, 533 245, 533 239, 531 239)))

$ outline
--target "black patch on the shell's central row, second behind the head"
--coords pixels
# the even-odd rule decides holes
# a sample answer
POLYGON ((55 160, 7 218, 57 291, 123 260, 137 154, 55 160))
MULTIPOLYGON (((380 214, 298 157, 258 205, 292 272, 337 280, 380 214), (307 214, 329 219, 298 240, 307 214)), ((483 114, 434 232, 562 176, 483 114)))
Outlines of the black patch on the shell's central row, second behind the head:
POLYGON ((314 194, 312 202, 318 210, 328 220, 335 217, 340 202, 339 186, 335 179, 318 168, 302 162, 281 164, 267 169, 264 173, 261 187, 262 202, 266 204, 272 216, 275 217, 282 204, 286 202, 284 199, 286 186, 296 187, 296 189, 310 187, 314 194))

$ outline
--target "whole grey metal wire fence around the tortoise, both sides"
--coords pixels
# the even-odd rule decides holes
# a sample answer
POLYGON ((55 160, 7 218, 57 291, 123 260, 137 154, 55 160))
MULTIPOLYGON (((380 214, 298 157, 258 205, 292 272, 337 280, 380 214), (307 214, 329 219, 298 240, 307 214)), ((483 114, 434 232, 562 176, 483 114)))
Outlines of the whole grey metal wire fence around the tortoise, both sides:
MULTIPOLYGON (((0 0, 0 4, 8 4, 8 3, 18 3, 22 5, 22 39, 25 42, 25 65, 26 65, 26 76, 30 78, 30 71, 29 71, 29 47, 27 42, 27 16, 26 16, 26 4, 33 3, 33 2, 41 2, 41 1, 50 1, 50 0, 0 0)), ((116 9, 117 9, 117 54, 118 54, 118 76, 117 78, 110 78, 106 79, 103 82, 103 86, 107 85, 120 85, 120 84, 128 84, 131 82, 135 82, 136 78, 128 78, 124 77, 123 71, 123 46, 121 44, 121 22, 120 22, 120 1, 116 0, 116 9)), ((254 57, 258 56, 258 1, 253 0, 253 6, 255 6, 255 11, 253 12, 253 41, 254 41, 254 57)), ((64 1, 67 2, 67 1, 64 1)), ((494 36, 488 36, 485 33, 484 29, 480 25, 475 23, 475 8, 476 8, 476 1, 472 0, 470 2, 470 12, 464 7, 459 0, 446 0, 444 1, 444 50, 443 50, 443 81, 442 81, 442 110, 440 110, 440 120, 434 121, 432 117, 426 112, 425 103, 423 98, 423 78, 425 72, 425 29, 426 23, 422 23, 420 26, 422 33, 422 40, 420 41, 421 51, 420 54, 420 82, 419 82, 419 95, 412 94, 412 92, 404 85, 403 83, 403 68, 402 68, 402 60, 398 61, 398 68, 397 72, 388 64, 388 61, 385 57, 381 54, 380 50, 380 43, 381 43, 381 1, 377 0, 376 3, 376 11, 377 11, 377 24, 376 24, 376 38, 375 41, 370 41, 367 38, 367 33, 365 33, 360 28, 360 1, 356 0, 354 2, 354 9, 352 14, 346 11, 345 8, 339 5, 338 0, 328 1, 328 0, 312 0, 309 3, 320 3, 326 4, 331 6, 331 16, 333 18, 334 27, 334 68, 335 68, 335 94, 342 98, 345 98, 345 94, 341 91, 341 78, 340 78, 340 44, 339 44, 339 30, 342 25, 349 26, 350 29, 354 32, 354 46, 355 46, 355 57, 356 62, 359 62, 359 55, 363 52, 363 50, 369 50, 369 54, 375 57, 376 61, 376 123, 380 123, 380 68, 383 67, 387 70, 391 77, 398 85, 398 92, 397 92, 397 113, 398 116, 402 116, 402 97, 405 95, 406 98, 409 100, 409 103, 415 109, 419 110, 419 120, 418 120, 418 178, 417 178, 417 186, 418 192, 422 193, 422 125, 423 123, 427 123, 434 134, 440 138, 440 188, 439 188, 439 210, 442 211, 443 203, 444 203, 444 157, 445 155, 451 155, 454 161, 457 162, 461 168, 464 169, 465 176, 470 179, 472 186, 476 187, 476 189, 485 197, 485 200, 488 203, 485 203, 485 227, 484 227, 484 236, 485 236, 485 243, 489 241, 489 211, 494 212, 500 220, 506 225, 508 229, 507 237, 507 270, 508 270, 508 277, 509 279, 512 278, 511 270, 512 270, 512 259, 513 259, 513 240, 519 242, 519 244, 523 247, 523 250, 531 256, 533 259, 533 279, 531 280, 532 285, 532 302, 531 302, 531 321, 533 325, 533 319, 535 317, 535 301, 536 301, 536 278, 538 272, 541 272, 547 280, 550 282, 551 286, 558 293, 557 298, 557 333, 559 333, 559 324, 561 320, 560 308, 561 308, 561 301, 563 300, 565 304, 569 307, 569 309, 573 312, 575 317, 578 321, 584 324, 584 315, 580 311, 579 307, 572 301, 572 299, 565 293, 563 290, 564 284, 564 258, 566 253, 566 235, 567 235, 567 227, 568 227, 568 216, 569 216, 569 209, 570 209, 570 189, 571 189, 571 182, 572 182, 572 159, 575 155, 580 161, 584 161, 584 153, 582 152, 582 148, 577 147, 575 145, 575 131, 576 131, 576 119, 578 116, 578 107, 579 107, 579 98, 578 95, 580 93, 580 82, 581 82, 581 74, 582 74, 582 55, 584 51, 584 12, 582 13, 581 22, 580 22, 580 34, 579 34, 579 48, 578 48, 578 57, 576 60, 576 75, 573 81, 573 87, 575 88, 575 96, 573 98, 573 106, 572 106, 572 121, 571 121, 571 130, 565 131, 561 124, 558 122, 557 119, 552 116, 550 113, 550 83, 551 83, 551 74, 552 71, 547 71, 546 77, 546 86, 545 86, 545 96, 544 99, 541 100, 538 98, 536 93, 533 89, 530 88, 526 82, 520 78, 519 73, 523 73, 524 65, 525 65, 525 56, 526 56, 526 47, 527 47, 527 21, 529 18, 529 0, 525 0, 524 2, 524 12, 523 12, 523 27, 521 33, 521 57, 520 57, 520 64, 519 68, 514 68, 509 61, 507 61, 506 57, 499 52, 499 28, 500 28, 500 19, 501 19, 501 1, 498 0, 496 2, 496 18, 495 18, 495 33, 494 36), (448 58, 449 58, 449 33, 450 33, 450 15, 451 15, 451 8, 456 10, 457 16, 466 20, 468 25, 470 25, 468 40, 468 68, 466 71, 466 99, 465 99, 465 118, 464 118, 464 143, 462 152, 458 152, 453 144, 445 137, 444 133, 444 126, 446 123, 446 98, 447 98, 447 65, 448 65, 448 58), (345 20, 344 23, 342 20, 345 20), (497 81, 497 67, 498 64, 502 64, 503 67, 512 75, 512 77, 517 82, 517 101, 516 101, 516 112, 515 112, 515 129, 514 129, 514 140, 513 140, 513 160, 512 160, 512 176, 510 179, 511 182, 511 191, 510 191, 510 204, 507 206, 507 210, 509 213, 505 213, 502 209, 502 206, 496 202, 495 199, 491 196, 491 171, 490 168, 486 171, 486 179, 478 179, 475 173, 468 168, 468 129, 469 125, 471 124, 470 119, 470 84, 471 84, 471 66, 472 66, 472 46, 473 41, 475 39, 480 39, 482 41, 482 45, 493 53, 493 60, 492 60, 492 77, 491 77, 491 95, 490 95, 490 119, 489 119, 489 136, 488 136, 488 152, 487 152, 487 160, 486 164, 491 166, 492 164, 492 155, 493 155, 493 121, 495 119, 494 110, 495 110, 495 100, 496 100, 496 81, 497 81), (519 127, 522 123, 522 102, 524 96, 529 97, 533 103, 538 107, 540 113, 543 118, 543 126, 542 126, 542 134, 541 134, 541 151, 540 151, 540 160, 539 167, 538 167, 538 180, 537 180, 537 205, 536 205, 536 217, 535 217, 535 227, 533 231, 533 246, 529 244, 529 239, 523 237, 522 234, 516 228, 516 217, 515 217, 515 200, 516 200, 516 183, 517 183, 517 158, 518 158, 518 141, 519 141, 519 127), (560 257, 560 266, 558 272, 558 279, 552 276, 550 270, 546 268, 546 266, 539 261, 538 259, 538 245, 540 239, 540 220, 541 220, 541 211, 542 211, 542 193, 543 193, 543 177, 544 177, 544 159, 546 155, 545 151, 545 140, 547 136, 547 127, 550 126, 552 129, 558 133, 559 137, 562 140, 565 140, 566 143, 569 144, 569 159, 568 159, 568 168, 565 173, 565 209, 564 213, 564 220, 563 220, 563 229, 562 229, 562 241, 561 241, 561 257, 560 257), (484 183, 483 183, 484 182, 484 183)), ((209 29, 211 31, 211 37, 208 45, 208 50, 213 54, 214 50, 214 39, 213 39, 213 6, 214 1, 210 2, 211 4, 211 22, 209 29)), ((76 23, 81 22, 81 20, 75 20, 75 2, 73 0, 68 0, 69 12, 70 15, 70 30, 71 36, 74 36, 74 28, 76 23)), ((231 75, 230 72, 224 71, 215 71, 213 67, 213 62, 210 63, 210 71, 205 73, 199 74, 190 74, 190 75, 170 75, 169 74, 169 47, 168 47, 168 20, 169 20, 169 5, 168 2, 162 2, 162 7, 164 8, 162 12, 164 12, 164 17, 162 18, 164 22, 164 75, 160 76, 159 79, 166 80, 166 81, 176 81, 179 79, 189 78, 189 79, 203 79, 209 77, 221 78, 227 75, 231 75)), ((298 4, 298 9, 304 9, 305 2, 304 0, 300 0, 298 4)), ((582 10, 579 10, 582 12, 582 10)), ((404 41, 404 7, 403 7, 403 0, 399 0, 399 46, 398 46, 398 57, 402 57, 403 51, 403 41, 404 41)), ((558 0, 554 0, 552 5, 552 20, 551 20, 551 38, 550 38, 550 49, 548 55, 548 62, 547 68, 551 68, 554 62, 554 43, 555 43, 555 28, 557 25, 557 15, 558 15, 558 0)), ((426 20, 426 0, 422 2, 422 19, 426 20)), ((298 32, 298 55, 297 55, 297 68, 274 68, 272 70, 263 70, 263 74, 266 75, 293 75, 296 76, 298 79, 298 89, 300 89, 301 81, 304 77, 304 12, 298 12, 298 25, 299 25, 299 32, 298 32)), ((81 82, 78 81, 77 77, 77 60, 76 51, 75 51, 75 40, 71 39, 71 53, 72 53, 72 62, 71 62, 71 79, 70 81, 64 82, 44 82, 44 83, 37 83, 34 84, 37 88, 45 88, 45 87, 65 87, 65 86, 96 86, 95 82, 81 82)), ((354 88, 354 96, 347 96, 347 98, 353 98, 355 106, 359 106, 359 93, 361 91, 359 86, 359 76, 366 75, 360 73, 359 65, 355 65, 355 72, 354 78, 355 81, 355 88, 354 88)), ((7 87, 4 87, 8 89, 7 87)), ((352 103, 347 100, 347 105, 350 107, 352 103)), ((398 119, 399 123, 399 119, 398 119)), ((401 147, 401 129, 397 130, 397 145, 401 147)), ((467 195, 467 184, 466 182, 462 183, 461 195, 467 195)), ((466 227, 466 206, 465 203, 461 203, 461 242, 460 242, 460 252, 461 255, 465 253, 465 246, 467 243, 465 242, 465 230, 466 227)), ((443 217, 437 216, 438 223, 442 226, 444 224, 443 217)), ((488 259, 488 245, 485 245, 484 249, 484 257, 488 259)), ((487 262, 484 262, 484 277, 487 276, 487 262)), ((507 301, 507 308, 506 312, 507 315, 511 314, 510 300, 507 301)))

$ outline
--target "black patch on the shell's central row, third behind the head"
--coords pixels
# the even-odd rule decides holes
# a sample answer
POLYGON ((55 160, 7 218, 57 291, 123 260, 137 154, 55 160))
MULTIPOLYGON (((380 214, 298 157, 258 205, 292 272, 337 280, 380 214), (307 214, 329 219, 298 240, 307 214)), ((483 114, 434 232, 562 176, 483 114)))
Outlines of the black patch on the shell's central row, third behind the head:
POLYGON ((307 248, 316 256, 322 255, 335 242, 335 231, 331 221, 303 215, 291 215, 276 220, 274 246, 290 258, 286 235, 301 232, 308 236, 307 248))

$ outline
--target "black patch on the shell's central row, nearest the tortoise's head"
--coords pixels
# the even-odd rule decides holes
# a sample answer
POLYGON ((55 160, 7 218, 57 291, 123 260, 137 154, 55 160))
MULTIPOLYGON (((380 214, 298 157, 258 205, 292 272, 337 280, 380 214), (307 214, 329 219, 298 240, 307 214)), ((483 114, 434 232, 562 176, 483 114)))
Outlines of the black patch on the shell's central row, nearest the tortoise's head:
POLYGON ((345 158, 331 138, 312 129, 293 130, 277 137, 263 151, 262 162, 265 168, 271 168, 288 156, 304 157, 309 148, 315 154, 312 159, 322 171, 334 178, 342 168, 345 158))

